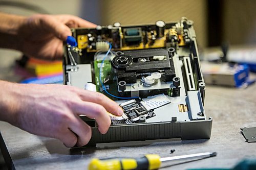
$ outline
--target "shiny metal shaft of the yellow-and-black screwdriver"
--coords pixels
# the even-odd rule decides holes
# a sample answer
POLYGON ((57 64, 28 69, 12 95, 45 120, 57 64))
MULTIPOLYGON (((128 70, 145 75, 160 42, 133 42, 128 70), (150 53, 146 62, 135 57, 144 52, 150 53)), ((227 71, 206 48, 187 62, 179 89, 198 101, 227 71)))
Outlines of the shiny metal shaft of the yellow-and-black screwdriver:
POLYGON ((165 161, 172 161, 172 160, 183 160, 188 158, 203 158, 203 157, 212 157, 216 156, 216 152, 205 152, 205 153, 199 153, 199 154, 191 154, 191 155, 181 155, 181 156, 172 156, 172 157, 166 157, 166 158, 160 158, 161 162, 165 161))

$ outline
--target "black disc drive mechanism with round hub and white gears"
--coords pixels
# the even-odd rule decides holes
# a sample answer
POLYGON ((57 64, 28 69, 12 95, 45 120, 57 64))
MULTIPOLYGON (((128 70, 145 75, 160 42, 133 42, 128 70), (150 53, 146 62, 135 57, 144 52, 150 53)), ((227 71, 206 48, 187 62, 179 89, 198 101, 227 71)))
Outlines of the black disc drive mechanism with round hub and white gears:
POLYGON ((162 48, 125 51, 116 55, 111 63, 112 74, 120 90, 119 95, 145 98, 167 94, 176 76, 173 59, 162 48), (121 83, 125 84, 125 89, 121 83))

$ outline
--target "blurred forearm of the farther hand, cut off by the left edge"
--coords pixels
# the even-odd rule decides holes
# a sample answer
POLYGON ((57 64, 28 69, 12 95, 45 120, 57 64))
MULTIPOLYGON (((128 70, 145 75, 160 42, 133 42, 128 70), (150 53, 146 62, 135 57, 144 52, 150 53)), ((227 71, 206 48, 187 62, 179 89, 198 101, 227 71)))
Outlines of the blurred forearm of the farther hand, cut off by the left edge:
POLYGON ((20 50, 18 32, 25 20, 25 16, 0 13, 0 47, 20 50))

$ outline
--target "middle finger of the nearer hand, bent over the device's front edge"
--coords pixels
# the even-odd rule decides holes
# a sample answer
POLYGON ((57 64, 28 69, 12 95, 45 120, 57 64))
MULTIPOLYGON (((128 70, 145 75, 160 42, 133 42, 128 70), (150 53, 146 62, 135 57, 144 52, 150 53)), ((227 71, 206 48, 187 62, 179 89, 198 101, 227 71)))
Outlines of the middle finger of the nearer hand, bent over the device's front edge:
POLYGON ((100 133, 105 134, 108 132, 111 120, 103 106, 92 102, 79 102, 73 106, 73 112, 95 119, 100 133))

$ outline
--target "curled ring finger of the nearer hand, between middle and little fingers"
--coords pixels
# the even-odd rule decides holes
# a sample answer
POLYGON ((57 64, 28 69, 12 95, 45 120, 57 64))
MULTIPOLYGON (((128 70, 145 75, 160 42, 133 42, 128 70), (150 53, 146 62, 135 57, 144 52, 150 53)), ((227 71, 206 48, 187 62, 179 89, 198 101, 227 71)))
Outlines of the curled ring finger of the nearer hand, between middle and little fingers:
POLYGON ((78 147, 82 147, 90 141, 92 137, 91 127, 84 123, 79 116, 76 116, 73 122, 70 123, 69 127, 76 135, 78 135, 76 142, 78 147))

